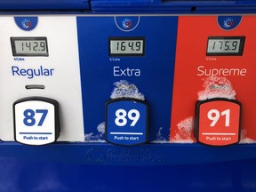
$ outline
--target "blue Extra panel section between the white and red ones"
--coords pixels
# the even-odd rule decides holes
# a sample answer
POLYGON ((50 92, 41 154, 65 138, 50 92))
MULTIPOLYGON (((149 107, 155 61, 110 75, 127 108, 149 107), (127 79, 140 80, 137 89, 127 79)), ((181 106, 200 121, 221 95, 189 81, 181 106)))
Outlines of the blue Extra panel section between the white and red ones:
MULTIPOLYGON (((120 22, 127 18, 121 17, 120 22)), ((116 83, 136 86, 148 101, 148 139, 156 140, 161 129, 163 138, 168 140, 178 18, 140 17, 138 21, 130 17, 129 20, 136 24, 127 30, 120 28, 113 16, 77 18, 85 134, 99 139, 97 127, 104 122, 105 103, 116 83), (113 36, 144 36, 145 56, 109 57, 108 37, 113 36), (132 74, 131 69, 140 70, 140 75, 132 74)))

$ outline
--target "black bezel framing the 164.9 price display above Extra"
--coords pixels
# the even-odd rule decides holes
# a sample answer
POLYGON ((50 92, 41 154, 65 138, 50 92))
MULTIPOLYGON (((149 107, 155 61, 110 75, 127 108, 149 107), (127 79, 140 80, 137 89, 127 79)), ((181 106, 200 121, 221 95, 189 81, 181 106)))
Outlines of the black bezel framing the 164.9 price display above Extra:
POLYGON ((116 56, 116 57, 143 57, 145 56, 145 43, 146 43, 146 38, 144 36, 135 36, 135 37, 108 37, 108 56, 112 57, 112 56, 116 56), (142 41, 143 45, 142 45, 142 53, 111 53, 111 41, 115 41, 115 40, 124 40, 124 41, 142 41))

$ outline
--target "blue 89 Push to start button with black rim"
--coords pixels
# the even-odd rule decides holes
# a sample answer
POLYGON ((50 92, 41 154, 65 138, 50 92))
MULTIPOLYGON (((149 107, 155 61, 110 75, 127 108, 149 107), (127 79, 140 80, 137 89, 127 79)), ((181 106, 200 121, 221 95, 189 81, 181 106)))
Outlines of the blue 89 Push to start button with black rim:
POLYGON ((110 100, 106 104, 106 140, 117 145, 147 142, 148 104, 142 100, 110 100))

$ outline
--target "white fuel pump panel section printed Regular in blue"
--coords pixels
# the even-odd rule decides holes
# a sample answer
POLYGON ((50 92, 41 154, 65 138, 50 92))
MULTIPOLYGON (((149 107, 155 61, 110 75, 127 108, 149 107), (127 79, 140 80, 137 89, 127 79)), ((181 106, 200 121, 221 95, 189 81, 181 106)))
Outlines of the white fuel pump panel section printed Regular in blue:
MULTIPOLYGON (((46 97, 60 104, 61 133, 58 140, 83 141, 76 17, 2 16, 0 23, 3 26, 0 32, 2 36, 0 51, 4 55, 0 59, 2 63, 0 92, 3 93, 0 96, 1 140, 14 140, 12 114, 17 113, 17 107, 20 106, 16 105, 14 112, 12 111, 12 104, 16 100, 27 97, 46 97)), ((36 110, 45 109, 42 105, 35 103, 34 108, 23 107, 23 112, 19 109, 20 126, 23 125, 24 129, 27 127, 29 130, 31 126, 21 125, 23 120, 26 121, 26 116, 31 116, 31 119, 33 117, 33 114, 26 111, 33 109, 36 113, 36 110)), ((48 118, 52 118, 49 115, 49 113, 45 116, 44 113, 37 113, 36 124, 37 121, 40 122, 40 118, 45 117, 42 126, 37 127, 42 131, 28 131, 32 133, 24 135, 28 138, 28 144, 33 143, 30 139, 36 138, 36 132, 44 132, 44 123, 47 123, 48 118)), ((28 119, 28 123, 31 124, 29 121, 32 120, 28 119)), ((51 124, 54 124, 54 121, 51 124)), ((47 140, 44 141, 47 142, 47 140)), ((26 139, 22 143, 26 144, 26 139)))

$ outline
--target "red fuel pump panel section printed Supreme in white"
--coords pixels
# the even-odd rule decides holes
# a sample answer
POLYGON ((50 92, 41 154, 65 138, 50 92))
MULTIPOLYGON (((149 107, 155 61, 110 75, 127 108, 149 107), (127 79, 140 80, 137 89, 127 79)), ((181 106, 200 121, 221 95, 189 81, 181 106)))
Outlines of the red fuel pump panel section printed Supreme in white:
POLYGON ((255 90, 252 82, 256 68, 252 49, 256 44, 253 35, 256 28, 250 23, 255 19, 253 15, 179 17, 172 95, 172 141, 196 142, 193 132, 194 129, 198 131, 199 118, 205 123, 201 127, 203 130, 212 129, 209 135, 204 135, 206 143, 219 146, 221 140, 225 146, 232 140, 236 142, 237 138, 241 139, 240 143, 254 143, 255 106, 252 98, 255 90), (189 81, 184 81, 184 77, 189 81), (199 116, 196 115, 195 119, 196 102, 205 102, 201 105, 203 108, 206 101, 212 99, 230 102, 228 105, 227 102, 215 102, 201 115, 197 110, 199 116), (240 104, 234 108, 230 105, 232 102, 240 104), (237 127, 241 127, 240 131, 237 127))

